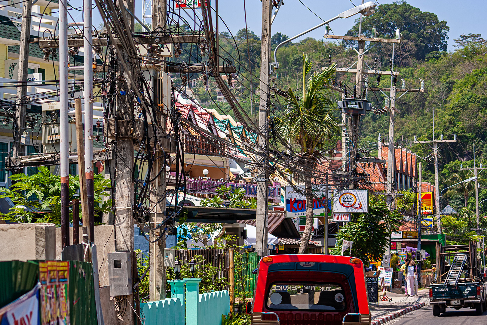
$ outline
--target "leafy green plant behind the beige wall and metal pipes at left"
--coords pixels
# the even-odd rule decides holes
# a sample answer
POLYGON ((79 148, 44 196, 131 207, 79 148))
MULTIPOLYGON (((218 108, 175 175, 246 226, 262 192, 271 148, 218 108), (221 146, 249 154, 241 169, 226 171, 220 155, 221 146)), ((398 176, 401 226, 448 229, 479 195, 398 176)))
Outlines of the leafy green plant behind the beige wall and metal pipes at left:
MULTIPOLYGON (((10 189, 1 189, 0 197, 9 197, 15 207, 7 213, 0 213, 0 220, 12 222, 50 222, 61 224, 61 178, 53 175, 49 168, 41 166, 37 174, 14 174, 10 176, 10 189)), ((94 175, 94 213, 110 212, 112 200, 106 189, 111 187, 110 180, 101 174, 94 175)), ((69 176, 69 200, 79 191, 79 177, 69 176)), ((80 219, 82 211, 80 209, 80 219)), ((73 220, 72 216, 70 220, 73 220)))

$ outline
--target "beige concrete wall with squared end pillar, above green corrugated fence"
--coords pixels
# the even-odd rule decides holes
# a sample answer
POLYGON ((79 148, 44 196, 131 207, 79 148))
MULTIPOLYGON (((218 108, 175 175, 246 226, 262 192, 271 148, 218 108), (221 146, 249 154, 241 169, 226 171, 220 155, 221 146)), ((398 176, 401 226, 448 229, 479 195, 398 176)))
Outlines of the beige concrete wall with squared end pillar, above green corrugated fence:
POLYGON ((0 261, 54 260, 55 234, 50 223, 0 225, 0 261))

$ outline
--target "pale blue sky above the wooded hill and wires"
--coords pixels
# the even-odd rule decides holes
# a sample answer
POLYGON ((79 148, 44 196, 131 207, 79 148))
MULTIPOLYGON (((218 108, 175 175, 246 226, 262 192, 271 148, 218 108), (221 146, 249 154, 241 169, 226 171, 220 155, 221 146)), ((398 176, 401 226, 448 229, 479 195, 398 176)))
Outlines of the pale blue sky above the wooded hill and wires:
MULTIPOLYGON (((135 15, 142 17, 142 0, 135 1, 135 15)), ((214 1, 214 0, 213 0, 214 1)), ((354 5, 360 4, 360 0, 301 0, 313 12, 324 20, 337 16, 340 12, 348 10, 354 5)), ((75 6, 81 0, 71 0, 75 6)), ((393 1, 375 1, 379 4, 391 3, 393 1)), ((450 26, 448 34, 448 49, 454 50, 453 39, 461 34, 482 34, 487 38, 487 1, 484 0, 408 0, 409 4, 418 7, 421 11, 433 12, 440 20, 446 20, 450 26)), ((262 2, 260 0, 245 0, 247 26, 255 34, 261 34, 262 2)), ((232 32, 245 27, 244 0, 219 0, 220 16, 225 20, 232 32)), ((358 16, 356 16, 358 17, 358 16)), ((330 26, 335 35, 343 35, 354 25, 356 17, 338 19, 330 26)), ((281 32, 291 37, 318 25, 322 20, 308 10, 299 0, 285 0, 281 6, 278 17, 274 20, 272 33, 281 32)), ((99 13, 94 12, 94 25, 101 22, 99 13)), ((223 24, 222 24, 223 25, 223 24)), ((307 36, 321 39, 324 27, 310 32, 307 36)))

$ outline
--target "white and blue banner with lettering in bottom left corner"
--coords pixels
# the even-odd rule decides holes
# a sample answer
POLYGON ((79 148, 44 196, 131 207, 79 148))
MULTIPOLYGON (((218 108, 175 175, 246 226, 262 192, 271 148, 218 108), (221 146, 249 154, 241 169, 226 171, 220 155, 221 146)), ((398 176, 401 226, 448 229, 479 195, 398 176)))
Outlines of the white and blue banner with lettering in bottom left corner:
POLYGON ((37 284, 32 290, 0 308, 2 325, 39 325, 39 288, 37 284))

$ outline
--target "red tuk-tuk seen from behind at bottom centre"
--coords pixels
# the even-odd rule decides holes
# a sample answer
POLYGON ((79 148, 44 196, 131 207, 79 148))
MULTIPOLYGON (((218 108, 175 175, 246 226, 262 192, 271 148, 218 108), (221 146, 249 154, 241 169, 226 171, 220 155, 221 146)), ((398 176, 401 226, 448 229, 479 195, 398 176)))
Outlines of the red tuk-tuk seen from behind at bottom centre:
POLYGON ((370 325, 363 263, 350 256, 266 256, 246 312, 252 325, 370 325))

